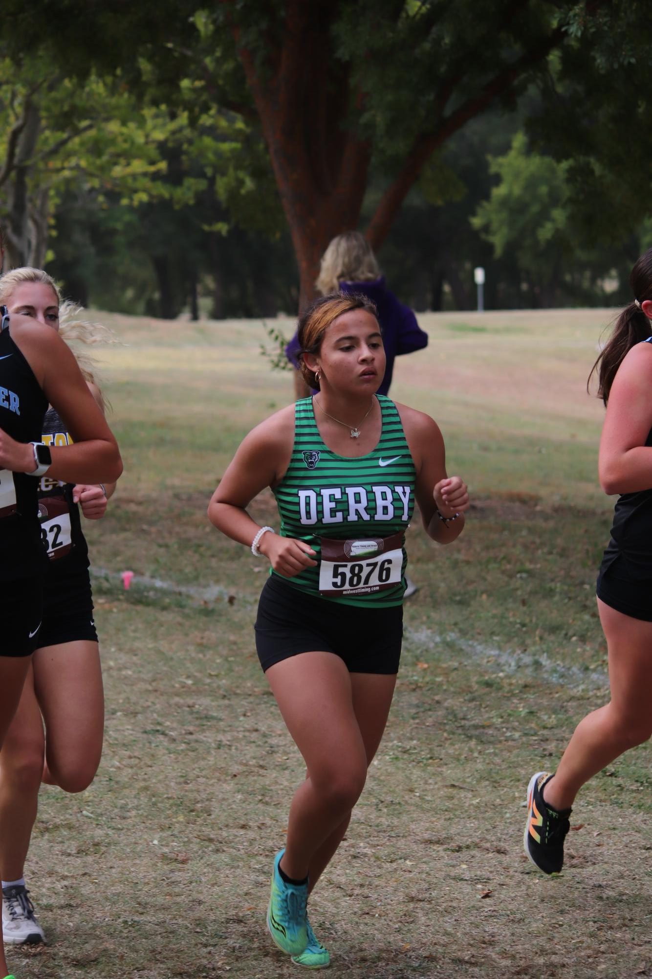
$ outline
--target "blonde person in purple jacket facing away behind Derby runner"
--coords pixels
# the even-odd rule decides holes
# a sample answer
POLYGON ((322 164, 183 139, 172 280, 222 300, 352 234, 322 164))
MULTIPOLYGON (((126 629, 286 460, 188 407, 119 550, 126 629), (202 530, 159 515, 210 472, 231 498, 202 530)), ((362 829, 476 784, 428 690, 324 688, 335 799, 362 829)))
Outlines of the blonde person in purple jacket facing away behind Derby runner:
MULTIPOLYGON (((386 395, 392 383, 394 358, 402 353, 423 350, 428 345, 428 335, 420 329, 412 309, 399 303, 394 293, 385 285, 371 246, 359 231, 345 231, 328 245, 316 286, 323 296, 329 293, 359 293, 367 296, 378 310, 387 366, 379 395, 386 395)), ((287 359, 296 368, 295 390, 298 397, 309 394, 299 373, 298 354, 301 348, 296 334, 285 348, 287 359)))

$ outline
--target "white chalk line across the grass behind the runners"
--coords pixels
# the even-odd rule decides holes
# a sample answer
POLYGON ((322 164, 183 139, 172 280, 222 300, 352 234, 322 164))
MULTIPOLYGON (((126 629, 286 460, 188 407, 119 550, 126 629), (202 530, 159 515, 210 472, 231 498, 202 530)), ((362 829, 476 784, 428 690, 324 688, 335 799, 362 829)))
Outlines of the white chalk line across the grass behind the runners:
MULTIPOLYGON (((91 575, 94 578, 122 584, 122 576, 118 571, 91 568, 91 575)), ((198 587, 194 584, 165 582, 160 578, 149 578, 147 575, 134 575, 131 583, 132 586, 135 584, 145 589, 189 595, 202 602, 214 602, 217 598, 228 599, 233 595, 232 591, 221 584, 198 587)), ((242 600, 241 596, 239 600, 242 600)), ((423 652, 435 650, 441 652, 443 646, 450 646, 452 649, 460 650, 467 658, 481 662, 490 668, 498 668, 503 673, 518 674, 525 671, 529 676, 559 683, 562 686, 605 687, 608 682, 606 673, 600 670, 582 670, 580 667, 567 666, 551 660, 543 652, 514 652, 511 649, 499 649, 477 639, 465 639, 456 632, 440 634, 425 627, 411 629, 408 626, 405 629, 405 636, 409 643, 423 652)))

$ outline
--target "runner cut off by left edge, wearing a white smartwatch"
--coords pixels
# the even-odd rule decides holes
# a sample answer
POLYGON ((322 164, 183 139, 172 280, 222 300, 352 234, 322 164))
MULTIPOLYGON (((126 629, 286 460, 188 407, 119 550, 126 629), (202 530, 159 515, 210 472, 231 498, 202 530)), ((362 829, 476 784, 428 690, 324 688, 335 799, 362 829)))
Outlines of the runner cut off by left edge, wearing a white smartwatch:
MULTIPOLYGON (((41 289, 41 311, 25 304, 10 326, 3 309, 0 330, 0 747, 41 624, 48 559, 38 521, 38 480, 48 475, 88 485, 116 480, 122 471, 117 444, 73 354, 44 322, 43 311, 51 315, 58 303, 49 286, 41 289), (74 444, 41 442, 48 403, 67 420, 74 444)), ((0 975, 6 970, 0 947, 0 975)))

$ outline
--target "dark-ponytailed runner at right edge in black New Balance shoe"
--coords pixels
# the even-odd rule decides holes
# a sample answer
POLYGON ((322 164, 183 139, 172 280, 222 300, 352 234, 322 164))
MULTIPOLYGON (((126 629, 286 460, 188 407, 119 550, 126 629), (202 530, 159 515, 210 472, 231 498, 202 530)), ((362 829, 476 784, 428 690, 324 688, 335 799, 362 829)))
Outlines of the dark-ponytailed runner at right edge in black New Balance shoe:
POLYGON ((578 724, 554 774, 530 779, 525 852, 547 874, 561 871, 585 782, 652 735, 652 249, 636 261, 630 285, 634 300, 593 365, 607 406, 600 484, 621 494, 597 579, 611 700, 578 724))

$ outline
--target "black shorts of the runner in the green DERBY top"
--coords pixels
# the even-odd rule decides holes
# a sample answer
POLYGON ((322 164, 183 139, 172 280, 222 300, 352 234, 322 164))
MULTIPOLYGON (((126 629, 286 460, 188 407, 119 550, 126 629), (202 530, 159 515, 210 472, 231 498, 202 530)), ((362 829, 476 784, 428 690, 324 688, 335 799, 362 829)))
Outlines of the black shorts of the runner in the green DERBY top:
POLYGON ((256 650, 263 670, 299 653, 335 653, 349 673, 394 675, 403 641, 403 606, 361 608, 306 595, 271 575, 260 595, 256 650))

